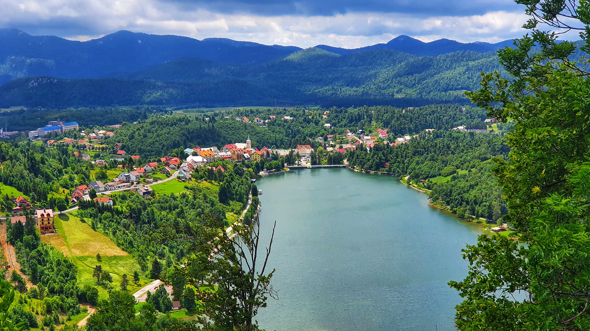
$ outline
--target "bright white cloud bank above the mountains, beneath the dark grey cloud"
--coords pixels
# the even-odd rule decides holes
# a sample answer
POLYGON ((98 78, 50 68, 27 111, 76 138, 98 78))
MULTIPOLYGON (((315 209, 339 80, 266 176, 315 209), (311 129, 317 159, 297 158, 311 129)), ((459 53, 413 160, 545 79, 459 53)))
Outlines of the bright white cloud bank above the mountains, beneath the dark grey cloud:
POLYGON ((263 44, 357 48, 406 34, 422 41, 461 42, 520 37, 525 15, 488 12, 473 16, 412 16, 349 12, 333 16, 222 14, 158 0, 0 0, 0 26, 30 34, 84 40, 120 29, 192 38, 221 37, 263 44))

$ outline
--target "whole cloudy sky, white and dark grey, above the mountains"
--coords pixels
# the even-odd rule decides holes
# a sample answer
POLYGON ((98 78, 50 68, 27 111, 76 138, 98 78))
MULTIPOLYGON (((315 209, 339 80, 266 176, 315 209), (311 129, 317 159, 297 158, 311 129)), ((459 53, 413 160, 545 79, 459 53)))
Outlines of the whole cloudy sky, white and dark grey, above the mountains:
POLYGON ((68 39, 122 29, 356 48, 398 35, 498 42, 523 34, 512 0, 0 0, 0 27, 68 39))

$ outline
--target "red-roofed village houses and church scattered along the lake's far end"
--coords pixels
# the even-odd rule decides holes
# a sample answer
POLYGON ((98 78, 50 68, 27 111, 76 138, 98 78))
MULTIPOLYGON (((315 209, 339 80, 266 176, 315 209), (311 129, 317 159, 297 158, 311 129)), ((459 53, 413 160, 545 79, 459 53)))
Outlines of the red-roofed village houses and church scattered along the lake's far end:
MULTIPOLYGON (((329 111, 324 112, 323 118, 327 117, 329 111)), ((271 118, 274 116, 271 115, 271 118)), ((235 118, 237 121, 244 123, 251 123, 264 126, 269 120, 261 120, 255 118, 250 120, 247 117, 235 118)), ((281 120, 293 120, 290 116, 285 116, 281 120)), ((326 128, 332 128, 329 123, 323 124, 326 128)), ((324 137, 309 138, 310 141, 314 141, 316 147, 319 144, 320 147, 313 148, 311 144, 297 145, 296 148, 290 149, 271 149, 263 147, 258 149, 252 146, 250 137, 247 138, 245 143, 232 143, 226 144, 221 148, 218 147, 200 147, 196 146, 193 148, 185 148, 185 157, 168 156, 161 157, 158 160, 146 162, 143 164, 126 164, 126 160, 140 161, 140 155, 129 155, 124 151, 122 143, 114 144, 114 150, 112 150, 113 157, 107 158, 96 158, 94 159, 95 153, 93 150, 106 150, 108 146, 103 144, 102 141, 114 137, 115 133, 113 130, 121 127, 121 125, 109 125, 105 128, 94 129, 94 130, 83 130, 79 131, 79 136, 84 139, 71 139, 64 137, 61 140, 47 140, 45 145, 47 147, 65 145, 69 147, 76 147, 73 151, 75 157, 80 157, 82 160, 90 161, 91 164, 97 169, 108 170, 110 176, 108 181, 95 180, 87 184, 81 184, 74 187, 67 194, 67 203, 70 209, 76 209, 76 204, 80 200, 94 200, 96 203, 109 204, 113 206, 113 200, 108 196, 109 193, 116 191, 131 190, 134 193, 142 197, 150 197, 153 195, 153 188, 150 187, 152 184, 162 183, 168 180, 179 180, 186 181, 192 177, 192 173, 195 169, 211 168, 213 171, 225 171, 225 168, 220 164, 211 166, 213 163, 219 163, 220 160, 230 161, 231 163, 247 163, 250 161, 260 162, 261 160, 271 161, 273 157, 292 157, 293 163, 289 166, 320 166, 317 161, 313 160, 312 154, 320 151, 321 153, 335 154, 335 153, 346 153, 349 150, 356 150, 356 148, 366 148, 371 150, 377 143, 398 145, 404 144, 410 141, 412 138, 417 138, 418 135, 413 137, 404 135, 403 137, 391 139, 387 131, 388 129, 378 128, 372 133, 366 133, 365 130, 358 130, 356 133, 351 133, 349 130, 343 131, 342 134, 330 134, 324 137), (88 153, 80 153, 80 150, 88 150, 88 153), (116 168, 113 168, 113 164, 116 164, 116 168), (209 165, 209 166, 208 166, 209 165), (113 178, 110 178, 113 177, 113 178)), ((65 134, 70 130, 80 130, 80 125, 76 122, 62 122, 62 121, 50 121, 45 127, 40 127, 37 130, 29 131, 28 136, 31 140, 41 140, 47 138, 48 134, 65 134)), ((425 130, 426 133, 432 132, 434 129, 425 130)), ((51 135, 50 135, 51 137, 51 135)), ((104 153, 103 153, 104 154, 104 153)), ((103 155, 99 154, 99 155, 103 155)), ((259 176, 267 176, 271 173, 281 172, 287 170, 287 168, 280 169, 269 169, 261 168, 259 176)), ((12 207, 11 223, 21 222, 26 223, 26 217, 22 216, 24 211, 31 209, 31 202, 23 196, 11 197, 10 200, 14 204, 12 207)), ((33 213, 33 219, 36 226, 42 234, 53 233, 55 228, 53 226, 53 214, 52 209, 47 208, 35 208, 33 213)))

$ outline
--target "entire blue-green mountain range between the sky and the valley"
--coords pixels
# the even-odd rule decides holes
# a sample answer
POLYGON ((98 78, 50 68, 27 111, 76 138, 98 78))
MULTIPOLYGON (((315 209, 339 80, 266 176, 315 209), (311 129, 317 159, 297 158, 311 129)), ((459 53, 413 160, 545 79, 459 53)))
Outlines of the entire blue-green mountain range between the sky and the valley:
POLYGON ((0 29, 0 107, 466 101, 512 44, 399 36, 346 49, 119 31, 90 41, 0 29))

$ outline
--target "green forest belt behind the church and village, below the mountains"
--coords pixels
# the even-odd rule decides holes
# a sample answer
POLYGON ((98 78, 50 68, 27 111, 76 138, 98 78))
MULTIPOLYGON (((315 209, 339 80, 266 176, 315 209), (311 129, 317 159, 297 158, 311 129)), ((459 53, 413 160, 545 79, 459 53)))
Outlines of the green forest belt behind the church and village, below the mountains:
POLYGON ((131 154, 153 158, 180 147, 217 146, 244 143, 248 137, 257 148, 296 148, 300 144, 317 146, 313 140, 328 134, 359 129, 375 132, 388 128, 394 135, 417 134, 427 128, 449 130, 458 125, 481 127, 486 114, 479 108, 455 105, 427 105, 408 110, 391 106, 336 108, 245 108, 211 115, 155 115, 137 124, 116 129, 106 144, 122 143, 131 154), (465 110, 463 110, 465 109, 465 110), (323 112, 329 111, 326 119, 323 112), (209 120, 205 119, 209 116, 209 120), (235 117, 269 120, 266 126, 235 121, 235 117), (271 118, 273 116, 274 118, 271 118), (282 120, 290 116, 293 120, 282 120), (331 124, 330 128, 324 124, 331 124), (311 138, 311 139, 310 139, 311 138))

